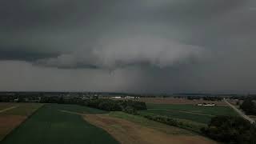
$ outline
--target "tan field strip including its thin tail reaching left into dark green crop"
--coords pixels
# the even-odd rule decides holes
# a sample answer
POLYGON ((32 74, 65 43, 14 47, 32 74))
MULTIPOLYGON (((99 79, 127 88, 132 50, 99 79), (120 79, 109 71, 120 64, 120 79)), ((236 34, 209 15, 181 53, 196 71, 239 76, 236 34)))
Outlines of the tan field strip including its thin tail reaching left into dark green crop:
POLYGON ((82 116, 87 122, 106 130, 116 140, 118 140, 118 142, 123 144, 146 144, 159 142, 174 142, 178 144, 187 142, 214 143, 208 138, 198 136, 189 130, 183 130, 174 126, 167 126, 160 122, 154 122, 140 116, 126 114, 123 112, 110 112, 110 114, 84 114, 70 110, 58 111, 66 114, 82 116), (161 140, 159 141, 159 139, 161 140))

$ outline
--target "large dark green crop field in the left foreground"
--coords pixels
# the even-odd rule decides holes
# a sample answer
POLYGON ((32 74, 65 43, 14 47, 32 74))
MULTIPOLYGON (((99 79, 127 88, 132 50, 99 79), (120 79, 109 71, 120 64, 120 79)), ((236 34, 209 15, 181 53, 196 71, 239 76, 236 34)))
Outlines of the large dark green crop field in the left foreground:
POLYGON ((18 129, 10 133, 2 144, 82 144, 118 143, 106 131, 90 125, 78 114, 64 113, 69 110, 78 113, 103 114, 86 106, 46 104, 42 106, 18 129))

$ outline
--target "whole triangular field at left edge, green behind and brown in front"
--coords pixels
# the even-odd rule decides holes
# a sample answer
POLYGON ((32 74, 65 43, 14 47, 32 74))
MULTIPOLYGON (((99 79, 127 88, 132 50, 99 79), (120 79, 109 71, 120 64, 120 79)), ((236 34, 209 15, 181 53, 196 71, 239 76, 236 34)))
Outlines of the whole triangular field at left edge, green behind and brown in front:
POLYGON ((0 141, 42 104, 0 103, 0 141))

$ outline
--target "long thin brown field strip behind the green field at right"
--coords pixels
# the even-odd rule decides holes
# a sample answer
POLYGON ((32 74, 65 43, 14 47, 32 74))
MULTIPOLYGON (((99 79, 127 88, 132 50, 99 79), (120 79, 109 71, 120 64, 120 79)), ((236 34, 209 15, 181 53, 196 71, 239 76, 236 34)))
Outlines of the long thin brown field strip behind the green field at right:
POLYGON ((215 103, 218 106, 227 106, 222 101, 204 101, 204 100, 189 100, 185 98, 140 98, 141 102, 156 103, 156 104, 198 104, 198 103, 215 103))

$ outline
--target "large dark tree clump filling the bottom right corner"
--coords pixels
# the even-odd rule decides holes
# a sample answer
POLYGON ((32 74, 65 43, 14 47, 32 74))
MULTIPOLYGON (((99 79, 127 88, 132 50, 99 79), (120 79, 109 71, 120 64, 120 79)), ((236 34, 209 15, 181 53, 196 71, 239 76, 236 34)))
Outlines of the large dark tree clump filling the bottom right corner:
POLYGON ((241 117, 217 116, 202 133, 219 142, 256 143, 256 126, 241 117))

